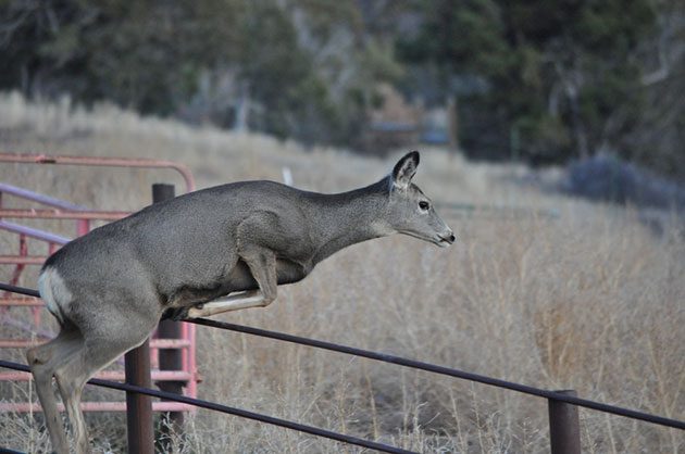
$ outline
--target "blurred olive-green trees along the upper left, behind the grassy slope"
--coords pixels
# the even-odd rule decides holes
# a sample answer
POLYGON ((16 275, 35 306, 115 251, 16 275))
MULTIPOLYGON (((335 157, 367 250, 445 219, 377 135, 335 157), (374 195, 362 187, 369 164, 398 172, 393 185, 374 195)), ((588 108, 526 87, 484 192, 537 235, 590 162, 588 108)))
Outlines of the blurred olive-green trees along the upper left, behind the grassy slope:
POLYGON ((383 46, 359 39, 351 0, 5 0, 0 14, 0 88, 162 115, 199 103, 197 119, 221 125, 242 99, 250 127, 309 143, 349 141, 365 93, 398 77, 383 46), (212 108, 215 96, 228 99, 212 108))

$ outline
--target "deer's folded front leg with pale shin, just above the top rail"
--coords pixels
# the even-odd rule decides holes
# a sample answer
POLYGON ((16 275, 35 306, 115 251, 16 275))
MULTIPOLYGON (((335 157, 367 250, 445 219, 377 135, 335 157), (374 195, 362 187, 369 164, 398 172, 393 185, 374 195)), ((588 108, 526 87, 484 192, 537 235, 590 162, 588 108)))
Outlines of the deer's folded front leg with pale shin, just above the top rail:
POLYGON ((222 312, 239 311, 248 307, 265 307, 277 294, 276 256, 272 251, 250 248, 240 254, 250 268, 259 290, 232 294, 222 300, 211 301, 188 311, 188 318, 210 317, 222 312))

